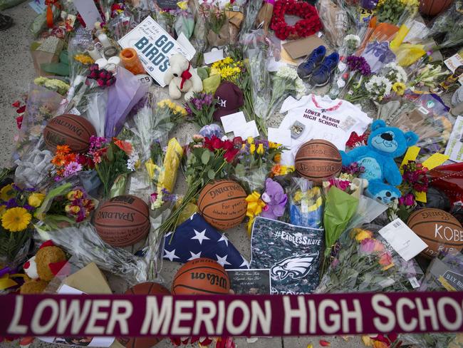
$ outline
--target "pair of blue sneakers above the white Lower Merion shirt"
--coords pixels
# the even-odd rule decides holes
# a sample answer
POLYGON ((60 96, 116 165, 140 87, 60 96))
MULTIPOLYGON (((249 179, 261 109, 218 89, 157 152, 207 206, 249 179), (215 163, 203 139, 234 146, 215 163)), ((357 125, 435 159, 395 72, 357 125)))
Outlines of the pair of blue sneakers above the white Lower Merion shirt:
POLYGON ((298 76, 300 78, 310 77, 309 83, 312 86, 326 86, 339 63, 339 54, 336 52, 326 55, 326 47, 318 46, 307 59, 298 66, 298 76))

